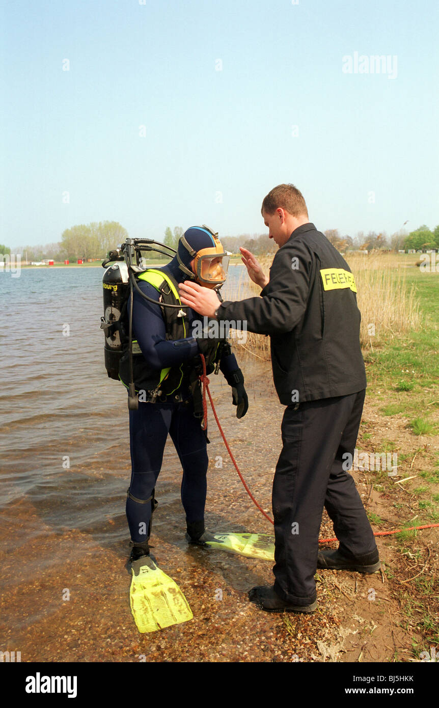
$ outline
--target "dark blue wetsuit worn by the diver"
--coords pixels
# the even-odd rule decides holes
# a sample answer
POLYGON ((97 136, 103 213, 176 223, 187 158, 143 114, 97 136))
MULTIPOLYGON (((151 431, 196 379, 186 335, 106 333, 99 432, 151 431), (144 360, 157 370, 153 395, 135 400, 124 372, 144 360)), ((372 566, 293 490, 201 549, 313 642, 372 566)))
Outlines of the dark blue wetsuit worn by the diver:
MULTIPOLYGON (((178 268, 176 259, 156 270, 164 270, 177 282, 187 279, 178 268)), ((139 281, 139 287, 145 295, 158 299, 157 290, 148 282, 139 281)), ((192 331, 193 321, 200 319, 200 316, 191 309, 188 309, 188 314, 192 331)), ((137 292, 134 294, 132 327, 145 360, 149 367, 156 370, 180 365, 200 353, 197 341, 191 336, 178 340, 177 346, 174 341, 166 340, 161 308, 147 302, 137 292)), ((236 369, 238 365, 233 354, 222 357, 220 370, 225 376, 236 369)), ((178 394, 181 400, 175 403, 139 401, 138 410, 130 411, 132 474, 126 513, 133 542, 147 541, 152 514, 150 498, 161 469, 168 433, 183 467, 181 501, 186 511, 186 521, 193 523, 204 519, 208 463, 205 433, 201 429, 200 418, 193 415, 193 399, 187 380, 183 379, 178 394)))

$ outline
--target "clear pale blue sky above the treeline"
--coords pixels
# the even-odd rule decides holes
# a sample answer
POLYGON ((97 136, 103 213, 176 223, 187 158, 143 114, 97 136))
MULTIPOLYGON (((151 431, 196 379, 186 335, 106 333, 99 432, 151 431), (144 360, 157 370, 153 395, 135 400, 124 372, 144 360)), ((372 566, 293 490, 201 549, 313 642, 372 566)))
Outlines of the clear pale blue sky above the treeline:
POLYGON ((438 18, 437 0, 3 0, 0 243, 103 219, 265 232, 282 182, 321 230, 435 227, 438 18), (354 52, 392 72, 343 72, 354 52))

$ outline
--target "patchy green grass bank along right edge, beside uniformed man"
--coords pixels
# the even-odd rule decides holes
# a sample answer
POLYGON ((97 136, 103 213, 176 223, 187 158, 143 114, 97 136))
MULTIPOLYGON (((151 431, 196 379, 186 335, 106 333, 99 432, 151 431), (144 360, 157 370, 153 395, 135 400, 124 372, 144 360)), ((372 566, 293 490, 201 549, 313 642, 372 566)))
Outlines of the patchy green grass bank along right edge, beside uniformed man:
MULTIPOLYGON (((439 646, 436 618, 438 590, 433 586, 437 581, 431 575, 431 565, 427 565, 421 575, 414 578, 423 569, 427 559, 426 532, 409 530, 411 526, 439 523, 439 456, 433 467, 435 440, 431 439, 424 447, 423 443, 417 442, 418 438, 414 438, 414 435, 439 433, 436 422, 439 409, 439 273, 422 273, 418 268, 408 268, 406 281, 409 287, 412 284, 415 286, 416 297, 420 299, 423 315, 421 329, 406 336, 389 338, 381 346, 374 344, 373 352, 370 349, 365 351, 367 396, 375 410, 380 409, 381 420, 367 423, 362 429, 367 430, 367 433, 360 433, 360 441, 370 441, 367 442, 369 447, 372 445, 377 448, 379 445, 383 452, 398 450, 398 465, 401 465, 399 479, 402 476, 416 476, 407 484, 395 484, 394 480, 387 477, 387 473, 383 475, 374 472, 368 475, 377 491, 385 489, 390 493, 386 495, 389 498, 389 508, 399 519, 395 527, 402 529, 390 537, 389 547, 392 551, 389 549, 389 554, 392 553, 394 557, 406 554, 404 558, 410 569, 409 575, 401 576, 402 567, 399 563, 392 566, 392 569, 384 568, 384 573, 390 582, 396 579, 400 583, 402 579, 410 579, 409 583, 399 585, 401 590, 394 588, 394 591, 401 603, 401 620, 406 625, 405 631, 409 637, 407 644, 411 636, 417 635, 413 639, 413 653, 419 658, 420 652, 429 651, 430 645, 439 646), (388 438, 391 435, 389 431, 386 433, 385 426, 390 425, 389 419, 386 420, 384 416, 404 416, 408 421, 406 435, 404 438, 395 437, 396 445, 392 440, 382 440, 384 435, 387 434, 388 438), (413 465, 415 453, 416 461, 413 465), (421 472, 418 472, 419 467, 421 472), (412 485, 415 489, 411 488, 412 485), (399 496, 394 496, 395 493, 399 496)), ((400 424, 398 427, 401 427, 400 424)), ((382 513, 387 518, 384 510, 382 513)), ((382 524, 382 519, 376 513, 368 512, 367 517, 375 529, 382 524)), ((385 547, 389 548, 387 543, 385 547)))

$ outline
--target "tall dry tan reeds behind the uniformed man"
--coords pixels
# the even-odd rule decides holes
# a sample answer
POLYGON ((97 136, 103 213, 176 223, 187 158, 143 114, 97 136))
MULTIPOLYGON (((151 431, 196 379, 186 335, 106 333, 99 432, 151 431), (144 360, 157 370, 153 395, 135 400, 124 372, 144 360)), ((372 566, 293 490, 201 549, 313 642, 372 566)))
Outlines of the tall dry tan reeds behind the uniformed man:
MULTIPOLYGON (((273 254, 259 256, 265 273, 273 262, 273 254)), ((390 339, 416 331, 421 327, 419 299, 414 285, 407 285, 404 262, 396 253, 371 251, 367 255, 358 252, 346 256, 357 285, 357 301, 361 312, 360 343, 363 349, 381 346, 390 339)), ((227 282, 224 299, 241 300, 256 297, 261 288, 247 275, 245 268, 238 282, 227 282)), ((270 338, 247 332, 245 343, 239 338, 231 341, 236 351, 247 352, 256 358, 270 360, 270 338)))

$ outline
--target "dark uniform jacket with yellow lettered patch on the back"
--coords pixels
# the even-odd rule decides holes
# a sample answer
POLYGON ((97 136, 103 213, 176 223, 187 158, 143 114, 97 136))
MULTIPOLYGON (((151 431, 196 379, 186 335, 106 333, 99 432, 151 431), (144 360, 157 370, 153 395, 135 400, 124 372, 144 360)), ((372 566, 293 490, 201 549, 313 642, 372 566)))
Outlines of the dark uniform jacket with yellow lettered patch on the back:
POLYGON ((270 335, 273 379, 285 406, 366 387, 355 281, 314 224, 295 229, 275 254, 261 297, 223 302, 217 318, 270 335))

